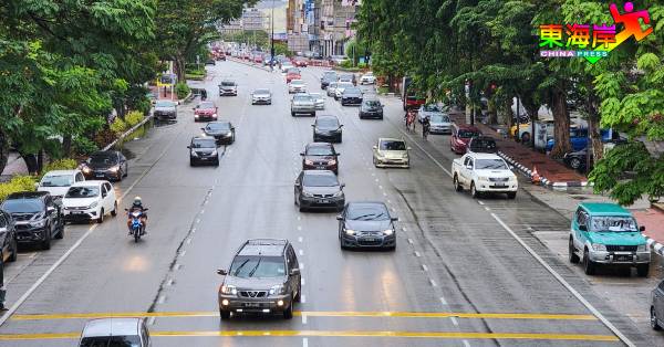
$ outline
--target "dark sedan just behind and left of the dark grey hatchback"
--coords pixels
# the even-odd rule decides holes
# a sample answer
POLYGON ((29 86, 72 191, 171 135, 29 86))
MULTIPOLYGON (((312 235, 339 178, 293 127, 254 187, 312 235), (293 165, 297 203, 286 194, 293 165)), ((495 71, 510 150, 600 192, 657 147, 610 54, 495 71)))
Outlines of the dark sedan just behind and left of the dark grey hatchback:
POLYGON ((329 170, 304 170, 295 179, 295 204, 300 212, 305 209, 343 210, 343 187, 334 172, 329 170))

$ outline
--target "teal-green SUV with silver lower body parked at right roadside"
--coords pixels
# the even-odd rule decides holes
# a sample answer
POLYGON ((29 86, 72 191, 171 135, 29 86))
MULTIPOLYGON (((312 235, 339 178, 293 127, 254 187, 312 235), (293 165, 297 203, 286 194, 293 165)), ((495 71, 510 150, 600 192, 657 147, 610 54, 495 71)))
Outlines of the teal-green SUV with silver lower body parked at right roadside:
POLYGON ((615 203, 579 203, 570 233, 570 262, 583 259, 585 274, 592 275, 598 264, 636 267, 646 277, 651 254, 630 211, 615 203))

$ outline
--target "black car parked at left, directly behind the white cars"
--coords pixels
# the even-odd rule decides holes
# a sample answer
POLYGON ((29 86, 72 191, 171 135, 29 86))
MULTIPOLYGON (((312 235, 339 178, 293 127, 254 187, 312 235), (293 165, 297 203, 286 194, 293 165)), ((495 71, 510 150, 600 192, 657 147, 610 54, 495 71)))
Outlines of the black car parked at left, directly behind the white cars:
POLYGON ((110 181, 121 181, 123 177, 127 176, 128 169, 127 158, 117 150, 95 151, 81 167, 85 179, 110 181))

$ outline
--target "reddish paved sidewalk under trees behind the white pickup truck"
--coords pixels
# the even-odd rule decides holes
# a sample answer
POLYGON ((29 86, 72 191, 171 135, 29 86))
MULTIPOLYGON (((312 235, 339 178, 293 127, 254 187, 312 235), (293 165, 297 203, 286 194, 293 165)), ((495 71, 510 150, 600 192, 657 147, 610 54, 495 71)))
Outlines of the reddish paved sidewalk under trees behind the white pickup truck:
MULTIPOLYGON (((466 116, 463 113, 450 113, 450 117, 457 124, 466 124, 466 116)), ((496 145, 498 146, 498 155, 518 168, 519 171, 527 177, 530 177, 533 168, 537 167, 537 171, 542 178, 541 181, 544 186, 567 188, 584 187, 588 185, 588 179, 583 175, 549 158, 547 155, 535 151, 512 139, 502 138, 501 134, 498 134, 495 129, 485 124, 476 123, 475 126, 479 128, 484 135, 495 138, 496 145)))

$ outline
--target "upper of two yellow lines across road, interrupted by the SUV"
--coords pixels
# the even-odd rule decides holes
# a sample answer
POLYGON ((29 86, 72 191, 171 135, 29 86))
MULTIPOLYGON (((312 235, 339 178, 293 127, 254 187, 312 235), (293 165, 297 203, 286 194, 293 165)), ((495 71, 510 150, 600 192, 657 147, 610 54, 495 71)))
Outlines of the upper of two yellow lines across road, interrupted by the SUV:
MULTIPOLYGON (((353 312, 353 311, 295 311, 293 315, 309 317, 398 317, 398 318, 476 318, 476 319, 543 319, 543 320, 598 320, 593 315, 536 314, 536 313, 461 313, 461 312, 353 312)), ((178 312, 105 312, 13 315, 11 320, 60 320, 117 317, 218 317, 214 311, 178 312)))

